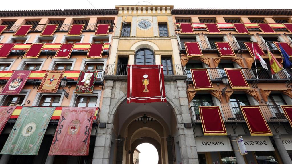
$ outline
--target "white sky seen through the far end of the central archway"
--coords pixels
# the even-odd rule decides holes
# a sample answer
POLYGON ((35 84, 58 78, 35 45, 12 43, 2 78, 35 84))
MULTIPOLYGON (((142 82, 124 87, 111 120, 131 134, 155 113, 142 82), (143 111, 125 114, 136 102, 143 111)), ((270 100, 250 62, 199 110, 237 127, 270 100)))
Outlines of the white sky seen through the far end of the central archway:
POLYGON ((140 164, 157 164, 158 163, 158 152, 156 148, 149 143, 143 143, 137 146, 140 153, 140 164))

